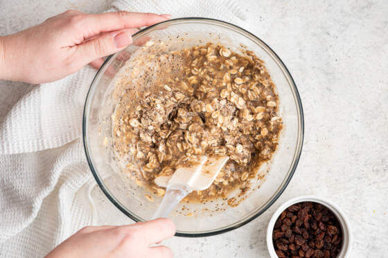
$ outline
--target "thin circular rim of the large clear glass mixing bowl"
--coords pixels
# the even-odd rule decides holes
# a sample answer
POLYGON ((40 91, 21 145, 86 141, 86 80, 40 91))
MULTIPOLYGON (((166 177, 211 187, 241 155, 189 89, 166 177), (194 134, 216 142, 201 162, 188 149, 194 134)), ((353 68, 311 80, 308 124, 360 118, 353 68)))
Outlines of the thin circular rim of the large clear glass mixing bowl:
MULTIPOLYGON (((265 208, 263 208, 263 210, 257 212, 253 216, 245 219, 244 221, 238 221, 237 223, 234 223, 233 225, 229 225, 226 228, 221 228, 219 230, 211 230, 209 232, 198 232, 198 233, 187 233, 187 232, 176 232, 175 233, 176 237, 209 237, 209 236, 213 236, 213 235, 229 232, 231 230, 235 230, 236 228, 240 228, 241 226, 243 226, 243 225, 249 223, 250 221, 256 219, 258 216, 263 214, 263 212, 265 212, 268 208, 270 208, 270 206, 277 199, 279 199, 279 196, 281 196, 281 194, 283 194, 285 188, 290 183, 291 178, 294 175, 295 170, 297 169, 297 165, 299 163, 299 158, 301 157, 301 151, 302 151, 302 148, 303 148, 303 138, 304 138, 304 116, 303 116, 303 107, 302 107, 302 103, 301 103, 301 98, 300 98, 300 95, 299 95, 299 91, 297 89, 297 85, 295 84, 294 79, 293 79, 290 71, 288 71, 287 66, 285 66, 285 64, 280 59, 280 57, 274 52, 274 50, 272 50, 272 48, 270 48, 270 46, 268 46, 265 42, 263 42, 263 40, 261 40, 259 37, 256 37, 254 34, 249 33, 249 31, 245 30, 244 28, 241 28, 240 26, 236 26, 236 25, 231 24, 231 23, 229 23, 227 21, 222 21, 222 20, 219 20, 219 19, 211 19, 211 18, 204 18, 204 17, 182 17, 182 18, 176 18, 176 19, 169 19, 167 21, 162 21, 162 22, 160 22, 158 24, 154 24, 152 26, 148 26, 147 28, 144 28, 143 30, 139 30, 137 33, 134 33, 134 35, 132 35, 132 37, 135 37, 136 35, 139 35, 141 33, 145 33, 146 31, 151 30, 155 26, 160 26, 161 24, 169 24, 169 23, 174 22, 174 21, 190 21, 190 20, 192 20, 192 21, 209 21, 209 22, 216 22, 217 24, 224 24, 224 25, 230 26, 232 28, 235 28, 236 30, 242 31, 243 33, 245 33, 245 36, 248 35, 248 36, 256 39, 258 42, 261 42, 266 48, 268 48, 270 53, 272 53, 272 55, 274 55, 274 57, 276 57, 277 61, 281 64, 282 68, 284 68, 284 72, 286 73, 286 75, 288 75, 288 79, 290 80, 291 85, 293 86, 294 97, 295 97, 295 100, 297 100, 296 102, 297 102, 297 105, 299 107, 299 110, 298 110, 298 115, 299 115, 299 131, 298 131, 299 141, 297 142, 296 151, 294 153, 294 165, 290 169, 291 170, 290 171, 290 175, 288 176, 288 178, 285 179, 284 185, 281 188, 281 190, 279 190, 279 192, 276 195, 274 195, 273 199, 269 203, 267 203, 265 208)), ((171 25, 173 25, 173 24, 171 24, 171 25)), ((120 52, 121 52, 121 50, 118 51, 118 53, 120 53, 120 52)), ((123 208, 122 205, 120 203, 118 203, 118 201, 116 201, 111 194, 109 194, 109 191, 105 188, 105 185, 103 184, 102 180, 98 176, 98 173, 94 169, 94 165, 92 164, 92 161, 91 161, 91 158, 90 158, 91 156, 89 155, 89 151, 88 151, 89 138, 87 137, 87 135, 88 135, 88 133, 87 133, 87 129, 88 129, 87 118, 89 118, 89 114, 87 113, 87 107, 89 107, 89 101, 90 101, 91 93, 93 93, 93 91, 94 91, 94 82, 99 79, 101 71, 103 71, 103 69, 105 68, 105 66, 109 62, 109 60, 112 59, 118 53, 109 55, 109 57, 107 57, 107 59, 105 59, 105 62, 100 66, 100 68, 98 69, 96 75, 94 76, 94 79, 91 82, 91 86, 89 87, 89 91, 87 92, 87 97, 86 97, 86 100, 85 100, 84 111, 83 111, 83 115, 82 115, 82 142, 83 142, 83 145, 84 145, 85 155, 86 155, 86 158, 87 158, 87 163, 88 163, 89 168, 91 170, 91 174, 93 174, 93 176, 94 176, 98 186, 103 191, 105 196, 107 196, 107 199, 109 199, 109 201, 111 201, 116 206, 116 208, 118 208, 118 210, 121 210, 121 212, 123 212, 123 214, 128 216, 130 219, 132 219, 135 222, 140 222, 141 220, 139 220, 136 216, 134 216, 130 212, 127 212, 127 210, 125 210, 125 208, 123 208)))

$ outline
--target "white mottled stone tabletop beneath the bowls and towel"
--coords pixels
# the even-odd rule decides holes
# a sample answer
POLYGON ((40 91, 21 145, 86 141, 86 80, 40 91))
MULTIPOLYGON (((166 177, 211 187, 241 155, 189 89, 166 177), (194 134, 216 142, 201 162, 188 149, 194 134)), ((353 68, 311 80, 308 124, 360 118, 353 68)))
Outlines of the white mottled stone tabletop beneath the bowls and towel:
MULTIPOLYGON (((0 34, 75 8, 101 12, 112 0, 0 1, 0 34)), ((351 221, 350 257, 388 252, 388 2, 240 0, 249 30, 283 59, 298 86, 305 139, 297 172, 272 207, 214 237, 166 241, 175 257, 269 257, 267 223, 284 201, 317 194, 351 221)), ((0 81, 0 119, 32 85, 0 81)), ((96 187, 100 224, 132 223, 96 187)))

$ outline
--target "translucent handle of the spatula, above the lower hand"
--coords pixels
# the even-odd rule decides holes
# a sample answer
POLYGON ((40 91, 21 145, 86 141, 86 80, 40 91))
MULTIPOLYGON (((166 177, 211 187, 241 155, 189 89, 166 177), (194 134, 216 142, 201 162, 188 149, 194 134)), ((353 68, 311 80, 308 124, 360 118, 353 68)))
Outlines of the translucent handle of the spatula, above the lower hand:
POLYGON ((166 194, 164 194, 164 198, 161 200, 159 208, 154 216, 152 216, 152 219, 167 218, 173 208, 189 193, 190 191, 186 187, 167 185, 166 194))

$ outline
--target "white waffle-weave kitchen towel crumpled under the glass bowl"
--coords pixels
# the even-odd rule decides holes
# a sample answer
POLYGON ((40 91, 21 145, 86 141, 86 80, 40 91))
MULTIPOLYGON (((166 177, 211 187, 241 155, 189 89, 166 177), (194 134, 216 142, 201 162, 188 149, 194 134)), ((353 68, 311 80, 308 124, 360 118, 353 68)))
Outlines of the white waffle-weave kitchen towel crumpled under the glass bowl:
MULTIPOLYGON (((112 3, 114 10, 210 17, 246 28, 235 1, 112 3)), ((96 183, 82 147, 82 111, 96 71, 85 67, 41 84, 0 124, 0 256, 43 257, 85 225, 96 223, 96 183)))

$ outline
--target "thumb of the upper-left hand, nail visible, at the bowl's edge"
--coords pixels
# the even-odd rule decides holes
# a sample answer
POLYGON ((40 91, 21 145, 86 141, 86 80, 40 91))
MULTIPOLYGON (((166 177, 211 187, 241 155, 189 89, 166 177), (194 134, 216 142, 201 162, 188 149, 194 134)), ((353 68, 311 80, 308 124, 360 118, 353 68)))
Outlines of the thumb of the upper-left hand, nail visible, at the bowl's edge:
POLYGON ((100 57, 112 55, 132 43, 132 37, 128 32, 106 33, 95 39, 91 39, 84 44, 76 46, 80 59, 86 64, 100 57))

